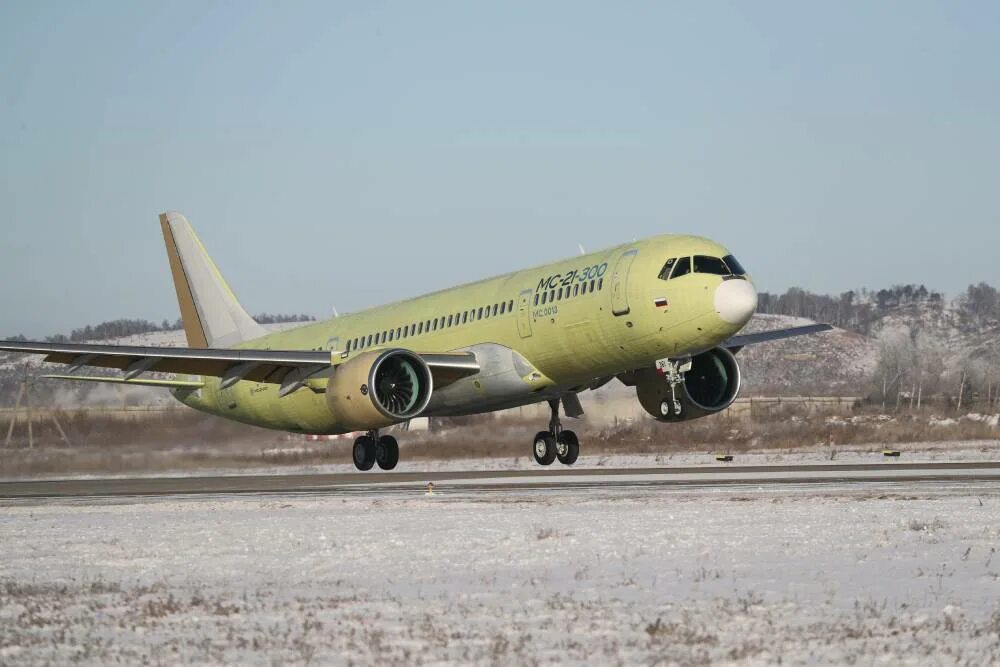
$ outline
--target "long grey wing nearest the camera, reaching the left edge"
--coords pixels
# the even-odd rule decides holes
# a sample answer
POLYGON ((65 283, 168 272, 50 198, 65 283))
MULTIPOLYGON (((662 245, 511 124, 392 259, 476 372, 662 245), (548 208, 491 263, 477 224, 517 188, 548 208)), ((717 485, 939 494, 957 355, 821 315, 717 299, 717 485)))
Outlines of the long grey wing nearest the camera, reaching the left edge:
MULTIPOLYGON (((281 396, 304 386, 310 378, 328 375, 331 368, 343 362, 339 352, 329 350, 226 350, 0 341, 0 351, 42 354, 44 361, 68 364, 67 375, 52 376, 58 379, 138 384, 137 378, 147 372, 208 375, 222 378, 223 388, 240 380, 280 384, 281 396), (73 375, 84 367, 118 369, 125 371, 125 375, 106 379, 73 375)), ((471 352, 421 354, 420 357, 430 367, 435 384, 439 386, 479 372, 479 364, 471 352)), ((189 385, 160 381, 158 386, 189 385)))

